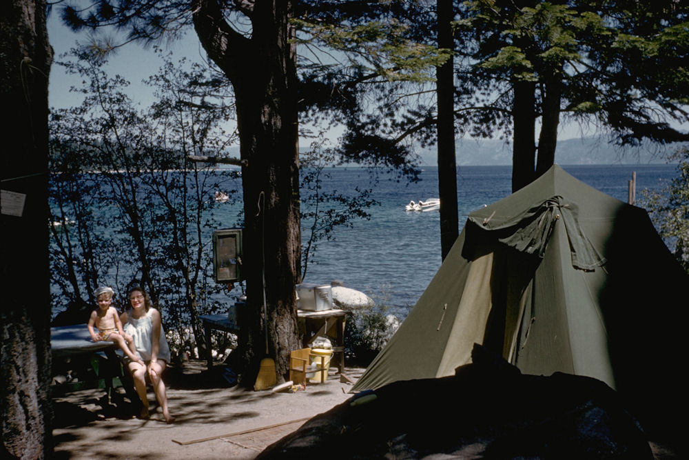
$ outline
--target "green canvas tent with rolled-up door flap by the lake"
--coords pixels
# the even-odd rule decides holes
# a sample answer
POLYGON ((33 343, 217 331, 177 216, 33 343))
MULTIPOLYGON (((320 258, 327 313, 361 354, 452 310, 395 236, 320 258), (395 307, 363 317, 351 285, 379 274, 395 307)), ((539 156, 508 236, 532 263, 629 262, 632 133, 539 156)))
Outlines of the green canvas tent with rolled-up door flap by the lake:
POLYGON ((683 391, 688 306, 689 277, 646 211, 555 165, 469 214, 351 391, 452 375, 480 343, 525 374, 595 377, 660 402, 683 391))

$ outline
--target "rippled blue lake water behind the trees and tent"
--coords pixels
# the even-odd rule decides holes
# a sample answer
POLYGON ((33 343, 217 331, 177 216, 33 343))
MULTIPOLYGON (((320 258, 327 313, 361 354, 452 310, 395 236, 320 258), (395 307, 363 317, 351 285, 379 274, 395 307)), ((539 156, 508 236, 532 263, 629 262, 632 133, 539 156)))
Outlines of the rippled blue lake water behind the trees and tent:
MULTIPOLYGON (((633 172, 637 174, 637 198, 644 188, 664 188, 676 175, 675 165, 664 164, 563 168, 589 186, 622 201, 627 201, 628 181, 633 172)), ((399 317, 406 317, 440 267, 441 258, 438 211, 405 212, 404 206, 411 200, 438 197, 438 168, 425 167, 420 174, 421 180, 416 183, 382 176, 374 184, 370 171, 363 168, 332 168, 326 172, 329 178, 323 184, 325 191, 372 188, 372 198, 379 204, 369 209, 369 220, 359 219, 353 221, 351 228, 337 228, 334 239, 318 243, 318 252, 307 267, 304 282, 342 281, 345 286, 362 290, 389 306, 399 317)), ((469 212, 511 193, 511 172, 511 166, 458 168, 460 230, 469 212)), ((241 190, 238 179, 223 186, 226 190, 241 190)), ((223 203, 216 208, 216 217, 223 228, 236 226, 240 207, 239 203, 223 203)), ((107 213, 107 210, 102 212, 107 213)), ((302 221, 304 241, 309 234, 308 224, 302 221)), ((211 233, 209 229, 208 239, 211 233)), ((210 250, 211 246, 207 247, 210 250)))

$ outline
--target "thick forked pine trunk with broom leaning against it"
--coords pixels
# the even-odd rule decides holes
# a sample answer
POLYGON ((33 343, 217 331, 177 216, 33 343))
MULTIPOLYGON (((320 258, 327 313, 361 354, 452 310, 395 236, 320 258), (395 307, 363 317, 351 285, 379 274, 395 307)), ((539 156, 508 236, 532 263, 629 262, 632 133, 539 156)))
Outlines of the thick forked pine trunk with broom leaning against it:
POLYGON ((294 290, 301 281, 301 230, 291 2, 256 1, 250 39, 227 26, 216 1, 196 6, 200 42, 234 87, 240 154, 248 161, 242 168, 247 308, 238 312, 240 345, 234 354, 244 370, 243 385, 251 386, 266 354, 267 325, 267 354, 275 360, 280 382, 289 370, 289 352, 300 348, 294 290))

